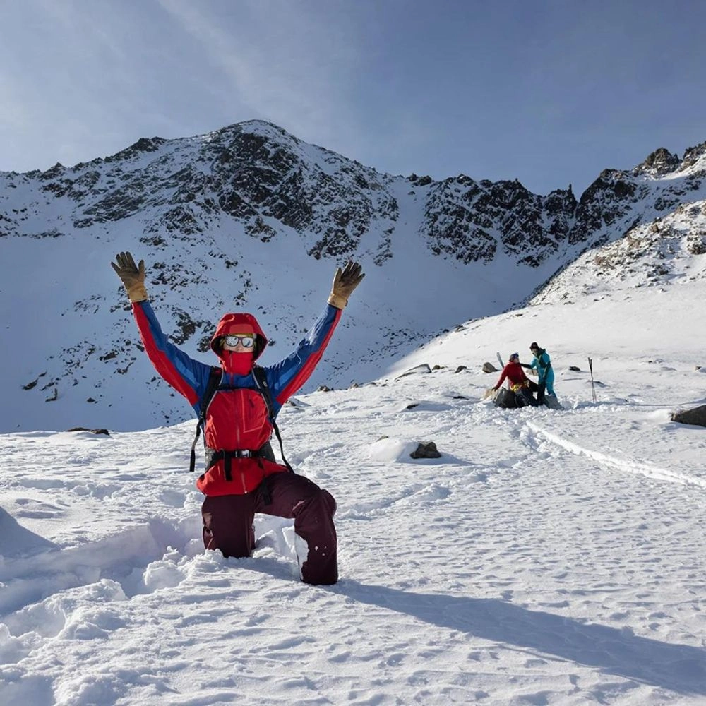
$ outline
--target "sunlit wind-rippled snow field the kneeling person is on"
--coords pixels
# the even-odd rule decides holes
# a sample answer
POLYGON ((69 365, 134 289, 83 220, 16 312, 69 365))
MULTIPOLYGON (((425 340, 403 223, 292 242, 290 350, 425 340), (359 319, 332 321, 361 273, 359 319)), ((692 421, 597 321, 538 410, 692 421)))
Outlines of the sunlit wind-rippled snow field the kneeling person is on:
POLYGON ((193 423, 0 436, 0 703, 704 704, 706 429, 669 418, 706 402, 702 292, 469 322, 297 397, 280 428, 337 498, 333 587, 299 582, 289 522, 203 552, 193 423), (482 401, 482 362, 532 340, 566 409, 482 401))

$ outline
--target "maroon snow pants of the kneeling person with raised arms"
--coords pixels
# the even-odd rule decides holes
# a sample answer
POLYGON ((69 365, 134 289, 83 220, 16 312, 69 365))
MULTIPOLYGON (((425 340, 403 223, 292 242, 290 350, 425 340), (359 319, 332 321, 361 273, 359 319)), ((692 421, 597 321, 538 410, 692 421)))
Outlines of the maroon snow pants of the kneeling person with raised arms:
POLYGON ((312 584, 337 582, 333 496, 294 473, 273 473, 265 478, 264 485, 264 489, 260 487, 247 495, 206 497, 201 505, 205 548, 220 549, 223 556, 250 556, 255 548, 255 513, 293 517, 294 532, 309 547, 306 561, 301 564, 302 580, 312 584), (265 500, 270 502, 265 504, 265 500))

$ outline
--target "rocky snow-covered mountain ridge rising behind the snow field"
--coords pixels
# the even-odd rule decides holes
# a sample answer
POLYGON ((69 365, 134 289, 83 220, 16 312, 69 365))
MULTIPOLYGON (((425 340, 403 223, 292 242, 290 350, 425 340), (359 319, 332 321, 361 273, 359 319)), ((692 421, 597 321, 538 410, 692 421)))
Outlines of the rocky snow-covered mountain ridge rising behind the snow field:
POLYGON ((189 417, 141 351, 109 267, 117 251, 145 259, 155 311, 186 352, 210 360, 215 322, 244 309, 271 338, 265 364, 316 318, 335 266, 358 259, 366 280, 306 389, 349 385, 532 294, 578 297, 574 267, 597 282, 630 268, 635 284, 701 277, 705 176, 706 143, 681 158, 657 150, 577 201, 570 187, 381 174, 259 121, 2 173, 0 431, 189 417))

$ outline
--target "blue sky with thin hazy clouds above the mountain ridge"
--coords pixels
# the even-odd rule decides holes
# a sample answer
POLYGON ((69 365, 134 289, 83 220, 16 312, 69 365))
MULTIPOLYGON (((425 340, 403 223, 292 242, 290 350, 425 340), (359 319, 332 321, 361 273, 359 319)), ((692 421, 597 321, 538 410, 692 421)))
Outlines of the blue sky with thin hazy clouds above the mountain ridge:
POLYGON ((706 140, 698 0, 4 0, 0 170, 265 119, 383 172, 577 196, 706 140))

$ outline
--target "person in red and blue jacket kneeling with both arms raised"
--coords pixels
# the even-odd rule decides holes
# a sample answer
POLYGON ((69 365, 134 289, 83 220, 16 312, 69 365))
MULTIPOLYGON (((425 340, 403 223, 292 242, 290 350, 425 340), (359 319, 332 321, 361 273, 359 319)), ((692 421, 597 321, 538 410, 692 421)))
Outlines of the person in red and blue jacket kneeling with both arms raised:
POLYGON ((294 532, 306 543, 306 556, 299 556, 301 579, 311 584, 337 582, 336 502, 289 465, 275 462, 269 439, 276 431, 277 412, 321 360, 349 296, 365 276, 361 266, 347 263, 337 268, 321 316, 294 351, 274 365, 256 366, 268 342, 256 318, 249 313, 225 314, 211 339, 220 361, 220 371, 214 373, 213 366, 189 357, 167 340, 148 301, 144 261, 136 265, 125 252, 111 264, 128 292, 150 361, 186 397, 203 428, 206 467, 196 486, 205 495, 201 506, 205 548, 220 549, 226 557, 250 556, 255 513, 293 518, 294 532))

